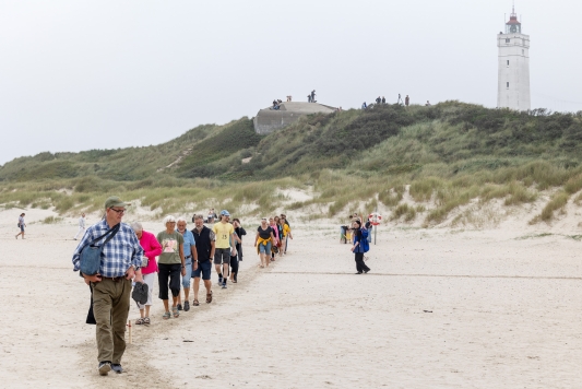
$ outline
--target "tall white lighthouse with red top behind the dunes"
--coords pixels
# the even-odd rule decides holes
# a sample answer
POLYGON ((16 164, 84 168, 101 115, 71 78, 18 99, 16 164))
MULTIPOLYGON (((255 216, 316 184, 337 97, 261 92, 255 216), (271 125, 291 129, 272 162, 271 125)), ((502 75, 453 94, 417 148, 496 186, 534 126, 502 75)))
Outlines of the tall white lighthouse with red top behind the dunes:
POLYGON ((515 7, 506 23, 506 33, 497 35, 499 74, 497 106, 527 110, 530 106, 530 36, 522 34, 515 7))

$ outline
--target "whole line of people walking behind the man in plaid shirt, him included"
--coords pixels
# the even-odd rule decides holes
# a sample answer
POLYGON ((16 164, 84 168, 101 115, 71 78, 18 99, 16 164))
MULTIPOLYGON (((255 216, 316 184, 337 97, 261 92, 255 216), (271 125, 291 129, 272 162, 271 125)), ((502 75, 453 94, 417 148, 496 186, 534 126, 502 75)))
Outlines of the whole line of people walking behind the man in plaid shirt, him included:
MULTIPOLYGON (((203 215, 195 214, 194 228, 191 231, 188 231, 185 217, 168 215, 163 221, 164 229, 154 235, 144 231, 140 222, 133 222, 131 225, 121 223, 128 205, 128 202, 118 197, 108 198, 105 202, 104 219, 86 228, 72 258, 73 270, 79 271, 82 258, 86 258, 83 257, 85 249, 99 250, 98 272, 84 274, 80 271, 80 275, 92 292, 90 316, 93 316, 92 322, 96 323, 97 369, 102 376, 111 370, 123 372, 121 357, 126 350, 124 332, 132 281, 135 283, 134 294, 136 290, 145 290, 142 285, 147 285, 147 298, 145 299, 144 294, 144 298, 140 298, 144 304, 138 303, 140 318, 136 325, 152 323, 150 314, 156 275, 158 298, 164 305, 162 318, 177 319, 180 311, 191 308, 191 279, 194 279, 192 306, 200 305, 201 279, 205 287, 205 302, 212 303, 212 262, 222 288, 227 288, 228 281, 238 282, 239 262, 242 261, 242 237, 247 234, 240 221, 233 219, 230 222, 230 213, 223 210, 219 220, 210 227, 204 225, 203 215), (99 245, 98 241, 106 236, 107 239, 99 245)), ((266 221, 266 217, 261 220, 254 240, 261 267, 266 267, 270 261, 275 260, 273 254, 285 255, 287 239, 293 239, 284 214, 272 217, 271 224, 266 221)))

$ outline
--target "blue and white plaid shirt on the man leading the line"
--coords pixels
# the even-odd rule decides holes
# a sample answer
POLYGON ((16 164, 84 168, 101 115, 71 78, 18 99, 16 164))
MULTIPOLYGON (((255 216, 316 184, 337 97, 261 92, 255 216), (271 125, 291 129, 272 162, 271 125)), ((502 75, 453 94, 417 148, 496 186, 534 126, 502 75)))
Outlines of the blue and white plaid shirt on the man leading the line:
MULTIPOLYGON (((86 244, 105 234, 107 231, 109 231, 109 225, 107 224, 106 220, 103 220, 87 228, 83 239, 81 239, 79 246, 73 252, 74 271, 78 271, 81 266, 81 249, 83 249, 86 244)), ((107 236, 97 241, 96 245, 103 245, 105 239, 107 239, 107 236)), ((129 225, 121 223, 116 236, 114 236, 114 238, 109 240, 103 248, 99 274, 110 278, 122 276, 132 264, 135 267, 135 270, 140 269, 142 266, 142 257, 143 249, 140 246, 138 236, 135 236, 135 233, 129 225)))

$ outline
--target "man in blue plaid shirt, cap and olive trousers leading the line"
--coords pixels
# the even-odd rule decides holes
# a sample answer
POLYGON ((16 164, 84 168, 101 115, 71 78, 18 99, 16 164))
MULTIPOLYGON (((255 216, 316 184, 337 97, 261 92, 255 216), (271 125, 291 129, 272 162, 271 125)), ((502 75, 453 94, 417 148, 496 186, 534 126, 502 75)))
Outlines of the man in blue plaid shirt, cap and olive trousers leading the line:
MULTIPOLYGON (((82 249, 95 238, 121 223, 128 203, 118 197, 105 201, 105 219, 85 232, 73 254, 74 271, 78 271, 82 249)), ((103 245, 106 238, 97 241, 103 245)), ((103 247, 99 272, 95 275, 81 274, 93 287, 93 311, 97 334, 97 358, 99 375, 111 369, 123 372, 121 356, 126 351, 126 322, 129 315, 131 280, 143 282, 141 263, 143 249, 133 229, 121 223, 117 234, 103 247)))

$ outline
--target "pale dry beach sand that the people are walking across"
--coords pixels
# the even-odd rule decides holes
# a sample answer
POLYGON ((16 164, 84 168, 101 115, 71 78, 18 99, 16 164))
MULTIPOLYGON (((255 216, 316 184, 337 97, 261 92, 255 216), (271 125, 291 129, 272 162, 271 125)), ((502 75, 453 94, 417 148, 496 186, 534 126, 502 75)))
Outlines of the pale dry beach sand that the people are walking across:
POLYGON ((71 270, 75 220, 44 225, 32 222, 50 211, 26 211, 26 240, 15 240, 20 212, 0 212, 0 387, 582 387, 574 220, 547 236, 525 221, 384 226, 366 275, 334 223, 294 223, 289 255, 266 270, 247 237, 238 284, 179 319, 162 321, 156 300, 127 373, 99 377, 88 287, 71 270))

